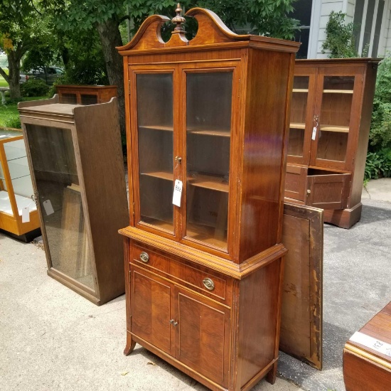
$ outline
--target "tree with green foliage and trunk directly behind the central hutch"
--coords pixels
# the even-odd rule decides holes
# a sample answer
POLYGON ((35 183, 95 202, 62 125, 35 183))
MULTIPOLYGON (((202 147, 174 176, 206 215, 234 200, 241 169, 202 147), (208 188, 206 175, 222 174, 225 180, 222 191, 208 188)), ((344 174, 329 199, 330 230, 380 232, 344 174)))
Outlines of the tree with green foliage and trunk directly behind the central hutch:
MULTIPOLYGON (((293 11, 295 0, 247 0, 247 1, 183 1, 183 9, 201 6, 218 14, 234 31, 237 26, 278 38, 293 38, 298 21, 287 16, 293 11)), ((146 16, 164 14, 174 16, 175 3, 171 0, 42 0, 50 3, 58 26, 64 31, 87 31, 94 26, 100 36, 107 76, 112 85, 117 85, 120 107, 120 124, 124 132, 124 81, 122 58, 116 46, 123 44, 120 24, 127 18, 134 29, 139 28, 146 16)))

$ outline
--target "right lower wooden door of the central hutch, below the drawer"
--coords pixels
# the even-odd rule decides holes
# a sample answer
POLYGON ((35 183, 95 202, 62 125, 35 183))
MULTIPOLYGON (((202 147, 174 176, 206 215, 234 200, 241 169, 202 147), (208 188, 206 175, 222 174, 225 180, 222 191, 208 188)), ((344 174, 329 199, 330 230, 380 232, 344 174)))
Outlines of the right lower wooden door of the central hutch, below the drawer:
POLYGON ((178 311, 176 359, 227 387, 230 310, 190 292, 174 288, 178 311))

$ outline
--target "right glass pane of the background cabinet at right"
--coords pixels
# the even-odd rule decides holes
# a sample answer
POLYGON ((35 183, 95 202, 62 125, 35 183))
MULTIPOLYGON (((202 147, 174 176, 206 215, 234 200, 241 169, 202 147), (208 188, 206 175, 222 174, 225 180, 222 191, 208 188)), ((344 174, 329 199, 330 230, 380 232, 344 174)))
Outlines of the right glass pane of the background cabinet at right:
POLYGON ((324 77, 317 159, 346 159, 353 86, 354 76, 324 77))

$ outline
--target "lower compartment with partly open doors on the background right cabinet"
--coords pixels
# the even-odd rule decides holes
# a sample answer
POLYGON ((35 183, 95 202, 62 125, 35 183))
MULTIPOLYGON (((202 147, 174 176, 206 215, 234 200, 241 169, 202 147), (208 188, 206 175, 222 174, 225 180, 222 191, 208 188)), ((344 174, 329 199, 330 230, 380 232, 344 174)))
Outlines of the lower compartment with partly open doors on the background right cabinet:
POLYGON ((315 208, 345 209, 348 206, 350 178, 350 173, 288 164, 284 195, 315 208))

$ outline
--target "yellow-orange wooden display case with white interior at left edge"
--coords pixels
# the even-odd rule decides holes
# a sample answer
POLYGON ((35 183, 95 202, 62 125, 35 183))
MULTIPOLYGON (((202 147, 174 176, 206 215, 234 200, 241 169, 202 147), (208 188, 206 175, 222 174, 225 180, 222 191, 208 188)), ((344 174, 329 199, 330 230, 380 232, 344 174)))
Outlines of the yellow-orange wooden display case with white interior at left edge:
POLYGON ((40 235, 23 134, 0 130, 0 230, 23 241, 40 235))

